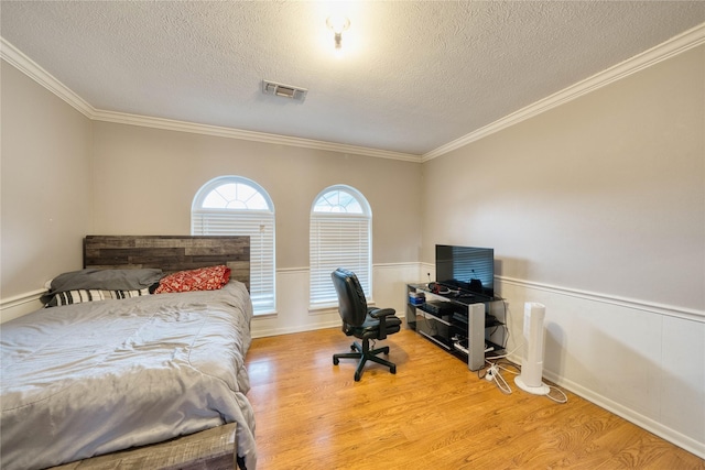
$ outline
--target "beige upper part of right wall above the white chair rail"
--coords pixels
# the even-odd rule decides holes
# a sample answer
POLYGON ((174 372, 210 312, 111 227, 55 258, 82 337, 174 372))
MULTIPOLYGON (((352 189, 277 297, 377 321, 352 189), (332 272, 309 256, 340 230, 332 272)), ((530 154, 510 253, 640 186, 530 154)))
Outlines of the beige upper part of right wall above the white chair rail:
POLYGON ((423 168, 423 256, 496 249, 498 274, 705 309, 705 47, 423 168))

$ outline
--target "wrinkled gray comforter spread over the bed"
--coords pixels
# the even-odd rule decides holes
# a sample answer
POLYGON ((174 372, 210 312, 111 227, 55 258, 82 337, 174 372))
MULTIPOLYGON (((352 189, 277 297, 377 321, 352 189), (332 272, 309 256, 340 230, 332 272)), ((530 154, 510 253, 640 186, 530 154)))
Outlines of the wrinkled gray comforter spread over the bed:
POLYGON ((256 468, 245 286, 45 308, 2 325, 0 467, 36 469, 237 423, 256 468))

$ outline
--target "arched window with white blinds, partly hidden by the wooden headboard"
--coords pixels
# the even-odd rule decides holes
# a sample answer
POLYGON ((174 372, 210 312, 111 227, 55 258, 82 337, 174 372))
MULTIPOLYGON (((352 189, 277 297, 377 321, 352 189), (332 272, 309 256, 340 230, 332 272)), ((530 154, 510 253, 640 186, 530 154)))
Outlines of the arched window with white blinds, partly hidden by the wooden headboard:
POLYGON ((191 233, 249 236, 254 315, 275 311, 274 205, 264 188, 241 176, 209 181, 194 197, 191 233))

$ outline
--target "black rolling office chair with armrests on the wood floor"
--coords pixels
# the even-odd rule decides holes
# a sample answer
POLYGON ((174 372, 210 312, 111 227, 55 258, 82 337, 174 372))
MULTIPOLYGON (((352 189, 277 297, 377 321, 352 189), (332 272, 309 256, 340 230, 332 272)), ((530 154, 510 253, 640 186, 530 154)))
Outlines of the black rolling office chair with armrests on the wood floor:
POLYGON ((333 363, 338 365, 340 359, 354 358, 360 362, 355 371, 355 381, 362 376, 362 370, 367 361, 373 361, 387 365, 389 371, 397 373, 397 365, 378 354, 389 354, 389 346, 370 350, 370 339, 378 340, 387 338, 387 335, 395 334, 401 329, 401 320, 394 316, 393 308, 372 308, 367 306, 365 293, 360 282, 354 272, 338 267, 330 273, 333 285, 338 294, 338 311, 343 319, 343 332, 362 340, 352 342, 350 349, 354 352, 333 354, 333 363))

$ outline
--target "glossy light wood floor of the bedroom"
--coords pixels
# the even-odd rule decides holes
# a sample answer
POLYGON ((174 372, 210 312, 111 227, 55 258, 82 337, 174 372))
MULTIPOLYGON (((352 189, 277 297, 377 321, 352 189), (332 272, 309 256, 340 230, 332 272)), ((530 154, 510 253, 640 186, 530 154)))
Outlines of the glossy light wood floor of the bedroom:
MULTIPOLYGON (((696 456, 567 393, 502 394, 411 330, 389 337, 397 374, 354 360, 338 328, 254 339, 247 358, 260 470, 705 469, 696 456)), ((380 346, 380 343, 378 343, 380 346)))

